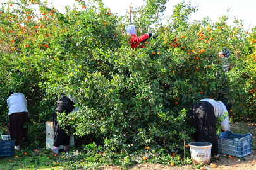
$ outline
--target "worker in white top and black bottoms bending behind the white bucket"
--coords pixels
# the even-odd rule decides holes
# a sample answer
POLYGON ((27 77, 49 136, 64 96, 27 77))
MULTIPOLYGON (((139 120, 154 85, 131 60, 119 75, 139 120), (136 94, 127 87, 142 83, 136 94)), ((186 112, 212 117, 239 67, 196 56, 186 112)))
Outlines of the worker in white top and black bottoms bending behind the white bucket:
MULTIPOLYGON (((201 99, 190 110, 190 123, 195 127, 195 142, 210 142, 214 158, 219 157, 218 141, 216 137, 216 118, 229 113, 231 104, 214 99, 201 99)), ((221 122, 221 130, 228 130, 229 117, 221 122)))

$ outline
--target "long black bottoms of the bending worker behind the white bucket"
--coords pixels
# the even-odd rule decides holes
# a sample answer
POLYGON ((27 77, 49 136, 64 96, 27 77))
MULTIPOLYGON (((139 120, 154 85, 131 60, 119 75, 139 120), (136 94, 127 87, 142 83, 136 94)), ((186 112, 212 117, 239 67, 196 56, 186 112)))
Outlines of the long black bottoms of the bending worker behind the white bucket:
POLYGON ((198 101, 190 110, 190 123, 196 128, 195 142, 210 142, 212 154, 219 154, 216 137, 214 107, 207 101, 198 101))

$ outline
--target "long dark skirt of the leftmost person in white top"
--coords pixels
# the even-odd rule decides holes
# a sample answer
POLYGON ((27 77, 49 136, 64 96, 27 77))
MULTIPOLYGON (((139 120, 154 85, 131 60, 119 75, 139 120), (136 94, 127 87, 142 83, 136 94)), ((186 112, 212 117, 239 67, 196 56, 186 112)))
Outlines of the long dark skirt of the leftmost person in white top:
POLYGON ((27 122, 27 112, 12 113, 9 115, 9 135, 11 136, 11 140, 16 140, 15 146, 20 145, 20 140, 24 140, 27 136, 27 129, 24 128, 27 122))

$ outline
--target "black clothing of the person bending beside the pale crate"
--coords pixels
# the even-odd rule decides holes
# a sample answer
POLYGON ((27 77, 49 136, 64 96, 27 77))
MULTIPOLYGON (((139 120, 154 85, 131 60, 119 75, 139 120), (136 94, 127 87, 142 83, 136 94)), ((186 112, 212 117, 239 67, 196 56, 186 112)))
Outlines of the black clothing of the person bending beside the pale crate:
MULTIPOLYGON (((59 147, 60 145, 70 145, 70 135, 68 135, 63 128, 59 127, 59 123, 57 120, 57 116, 59 113, 65 111, 66 115, 70 113, 68 109, 61 103, 58 104, 57 108, 54 110, 53 113, 53 130, 54 130, 54 146, 59 147)), ((70 126, 66 127, 65 129, 70 130, 70 126)))

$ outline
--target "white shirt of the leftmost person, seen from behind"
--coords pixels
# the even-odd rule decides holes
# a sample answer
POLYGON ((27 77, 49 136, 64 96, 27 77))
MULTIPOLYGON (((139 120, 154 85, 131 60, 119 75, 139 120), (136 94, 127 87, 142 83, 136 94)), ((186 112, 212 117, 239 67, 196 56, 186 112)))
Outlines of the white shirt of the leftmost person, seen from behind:
POLYGON ((7 99, 7 105, 9 107, 8 115, 18 112, 28 112, 27 99, 23 93, 13 93, 7 99))

